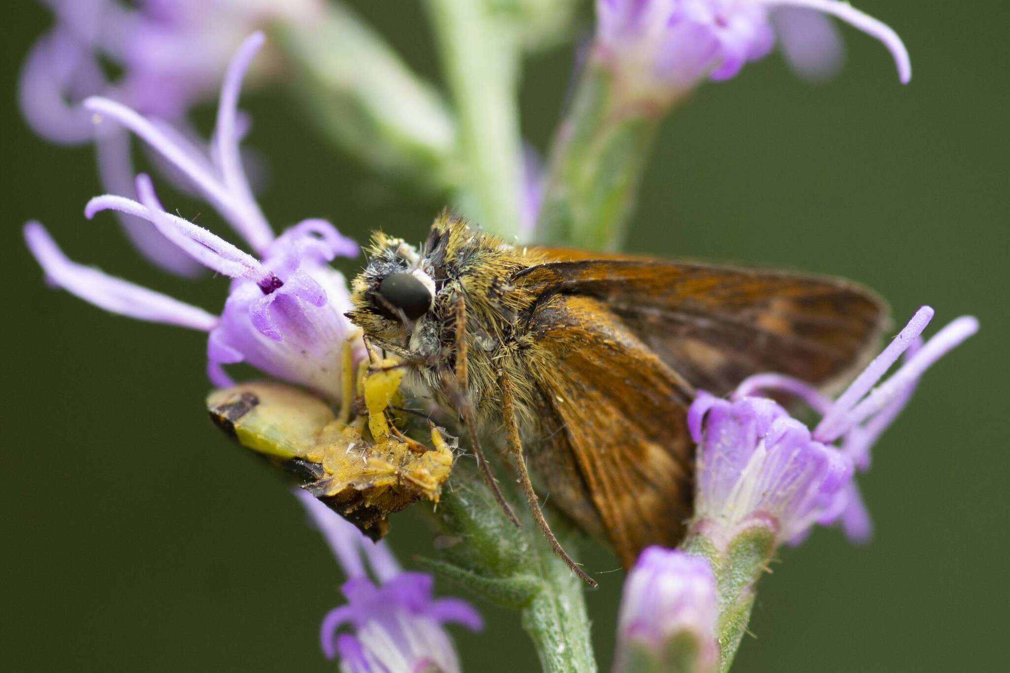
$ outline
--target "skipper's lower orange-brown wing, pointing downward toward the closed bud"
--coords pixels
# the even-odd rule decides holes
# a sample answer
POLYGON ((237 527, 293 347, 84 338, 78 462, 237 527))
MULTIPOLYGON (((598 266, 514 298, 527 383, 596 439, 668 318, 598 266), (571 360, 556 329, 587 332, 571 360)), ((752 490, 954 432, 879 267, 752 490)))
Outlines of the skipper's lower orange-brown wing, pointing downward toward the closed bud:
POLYGON ((648 544, 676 545, 691 514, 691 386, 599 300, 554 296, 531 326, 547 421, 527 446, 550 501, 625 566, 648 544))

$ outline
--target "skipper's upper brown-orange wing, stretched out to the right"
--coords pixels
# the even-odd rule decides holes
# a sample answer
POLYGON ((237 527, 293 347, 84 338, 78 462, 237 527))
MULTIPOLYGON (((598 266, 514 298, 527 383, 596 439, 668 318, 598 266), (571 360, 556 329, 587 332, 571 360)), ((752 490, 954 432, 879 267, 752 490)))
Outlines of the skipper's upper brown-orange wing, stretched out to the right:
POLYGON ((716 395, 763 371, 830 383, 864 363, 887 325, 884 302, 857 285, 779 271, 624 256, 537 264, 514 282, 543 299, 602 300, 664 362, 716 395))

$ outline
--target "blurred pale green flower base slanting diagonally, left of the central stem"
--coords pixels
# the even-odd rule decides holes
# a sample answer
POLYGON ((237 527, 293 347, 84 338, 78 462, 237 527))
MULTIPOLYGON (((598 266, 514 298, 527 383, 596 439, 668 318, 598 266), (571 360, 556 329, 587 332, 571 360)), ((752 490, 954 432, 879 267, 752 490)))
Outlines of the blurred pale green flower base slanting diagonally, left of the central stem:
POLYGON ((339 3, 312 26, 274 29, 293 93, 323 133, 373 170, 427 189, 454 187, 456 120, 437 90, 339 3))

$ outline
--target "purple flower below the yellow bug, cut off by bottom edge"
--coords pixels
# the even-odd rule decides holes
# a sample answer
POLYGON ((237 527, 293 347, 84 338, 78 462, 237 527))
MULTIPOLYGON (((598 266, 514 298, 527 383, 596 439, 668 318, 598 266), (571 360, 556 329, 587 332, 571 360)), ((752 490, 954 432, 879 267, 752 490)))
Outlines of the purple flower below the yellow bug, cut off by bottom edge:
POLYGON ((473 605, 434 599, 430 575, 401 570, 384 542, 374 544, 309 493, 295 493, 348 578, 340 587, 347 603, 330 610, 319 630, 326 657, 339 657, 345 673, 458 672, 456 648, 442 625, 481 631, 484 622, 473 605))

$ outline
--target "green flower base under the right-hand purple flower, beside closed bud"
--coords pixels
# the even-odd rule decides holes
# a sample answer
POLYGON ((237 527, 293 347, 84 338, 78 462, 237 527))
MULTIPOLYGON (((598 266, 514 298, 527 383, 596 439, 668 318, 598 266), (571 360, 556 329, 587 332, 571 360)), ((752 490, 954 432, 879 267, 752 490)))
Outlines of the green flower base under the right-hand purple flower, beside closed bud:
POLYGON ((704 556, 715 573, 719 601, 719 671, 729 670, 750 621, 754 585, 765 572, 775 551, 775 534, 755 525, 740 531, 728 545, 720 548, 703 532, 694 529, 681 545, 690 554, 704 556))

